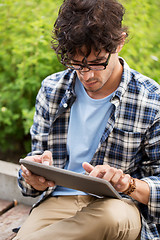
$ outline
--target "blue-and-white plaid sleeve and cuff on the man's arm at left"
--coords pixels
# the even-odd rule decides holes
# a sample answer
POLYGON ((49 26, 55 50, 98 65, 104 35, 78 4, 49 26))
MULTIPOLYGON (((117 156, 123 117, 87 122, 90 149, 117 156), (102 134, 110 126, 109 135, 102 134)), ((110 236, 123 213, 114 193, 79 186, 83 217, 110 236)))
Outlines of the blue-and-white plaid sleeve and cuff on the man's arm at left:
MULTIPOLYGON (((48 133, 50 128, 49 122, 49 101, 45 92, 45 86, 42 82, 42 87, 36 98, 36 111, 34 115, 34 122, 31 127, 30 133, 32 137, 32 152, 28 155, 42 154, 47 150, 48 133)), ((18 185, 24 196, 37 197, 43 192, 37 191, 32 186, 27 184, 19 171, 18 185)))

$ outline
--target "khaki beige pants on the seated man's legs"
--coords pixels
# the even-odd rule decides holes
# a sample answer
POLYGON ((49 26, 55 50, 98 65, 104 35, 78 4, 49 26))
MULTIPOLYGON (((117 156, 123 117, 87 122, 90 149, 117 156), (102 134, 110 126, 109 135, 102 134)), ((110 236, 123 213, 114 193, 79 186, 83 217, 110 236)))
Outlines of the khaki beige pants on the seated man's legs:
POLYGON ((93 196, 50 197, 34 208, 14 240, 135 240, 134 203, 93 196))

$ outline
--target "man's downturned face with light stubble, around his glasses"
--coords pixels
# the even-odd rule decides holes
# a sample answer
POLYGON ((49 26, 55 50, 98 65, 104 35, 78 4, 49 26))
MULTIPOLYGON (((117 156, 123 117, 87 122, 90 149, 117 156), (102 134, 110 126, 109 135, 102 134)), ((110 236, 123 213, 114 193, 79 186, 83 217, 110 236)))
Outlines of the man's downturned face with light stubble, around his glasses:
MULTIPOLYGON (((94 69, 94 64, 103 64, 106 62, 108 55, 109 53, 106 53, 105 50, 102 50, 99 55, 92 50, 87 57, 87 64, 91 67, 93 64, 92 68, 94 69)), ((83 65, 83 59, 84 56, 77 54, 72 60, 73 66, 74 63, 83 65)), ((111 54, 108 65, 104 70, 95 71, 84 67, 82 70, 76 70, 76 72, 88 95, 100 99, 116 90, 121 79, 122 66, 118 60, 118 53, 115 53, 111 54)))

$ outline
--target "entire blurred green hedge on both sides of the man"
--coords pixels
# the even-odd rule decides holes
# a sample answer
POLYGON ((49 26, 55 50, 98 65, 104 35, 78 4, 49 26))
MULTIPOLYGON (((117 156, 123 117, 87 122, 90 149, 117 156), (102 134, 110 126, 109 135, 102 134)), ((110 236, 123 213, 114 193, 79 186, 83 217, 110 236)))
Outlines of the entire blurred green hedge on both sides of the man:
MULTIPOLYGON (((30 150, 29 128, 41 81, 63 69, 51 49, 51 32, 62 0, 1 0, 0 152, 30 150)), ((159 0, 123 0, 129 42, 121 56, 159 81, 159 0)))

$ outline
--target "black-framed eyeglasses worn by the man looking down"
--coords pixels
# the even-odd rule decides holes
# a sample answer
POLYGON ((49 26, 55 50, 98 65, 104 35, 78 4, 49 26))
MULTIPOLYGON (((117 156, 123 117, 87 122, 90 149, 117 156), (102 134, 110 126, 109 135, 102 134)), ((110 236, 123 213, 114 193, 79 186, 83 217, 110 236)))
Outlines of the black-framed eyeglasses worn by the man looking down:
MULTIPOLYGON (((109 59, 110 59, 111 54, 109 53, 107 59, 105 62, 103 63, 90 63, 90 64, 80 64, 80 63, 76 63, 76 61, 74 60, 74 63, 65 63, 65 66, 73 69, 73 70, 78 70, 81 72, 89 72, 90 70, 92 71, 102 71, 105 70, 108 63, 109 63, 109 59), (84 68, 88 68, 87 70, 83 70, 84 68)), ((77 61, 78 62, 78 61, 77 61)))

